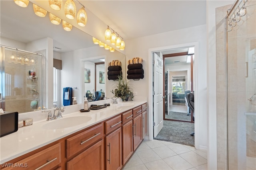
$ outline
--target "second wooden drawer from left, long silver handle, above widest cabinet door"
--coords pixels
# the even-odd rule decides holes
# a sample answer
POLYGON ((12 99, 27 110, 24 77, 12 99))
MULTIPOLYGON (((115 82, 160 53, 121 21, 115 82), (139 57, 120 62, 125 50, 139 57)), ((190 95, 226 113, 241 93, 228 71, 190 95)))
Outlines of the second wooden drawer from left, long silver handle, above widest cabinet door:
POLYGON ((66 140, 67 158, 103 137, 103 124, 92 127, 66 140))

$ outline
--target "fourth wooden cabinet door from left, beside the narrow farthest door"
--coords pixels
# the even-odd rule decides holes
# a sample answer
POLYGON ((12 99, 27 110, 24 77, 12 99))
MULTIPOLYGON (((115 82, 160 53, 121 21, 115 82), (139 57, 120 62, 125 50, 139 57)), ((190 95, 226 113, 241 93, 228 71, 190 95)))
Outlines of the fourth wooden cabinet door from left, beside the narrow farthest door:
POLYGON ((133 119, 133 150, 142 142, 142 114, 133 119))

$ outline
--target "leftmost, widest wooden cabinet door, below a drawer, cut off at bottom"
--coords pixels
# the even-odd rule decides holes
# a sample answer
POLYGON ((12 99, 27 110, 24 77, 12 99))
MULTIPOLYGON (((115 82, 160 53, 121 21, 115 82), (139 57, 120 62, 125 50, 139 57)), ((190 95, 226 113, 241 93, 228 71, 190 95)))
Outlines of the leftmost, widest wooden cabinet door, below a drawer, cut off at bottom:
POLYGON ((104 170, 104 140, 68 161, 67 170, 104 170))

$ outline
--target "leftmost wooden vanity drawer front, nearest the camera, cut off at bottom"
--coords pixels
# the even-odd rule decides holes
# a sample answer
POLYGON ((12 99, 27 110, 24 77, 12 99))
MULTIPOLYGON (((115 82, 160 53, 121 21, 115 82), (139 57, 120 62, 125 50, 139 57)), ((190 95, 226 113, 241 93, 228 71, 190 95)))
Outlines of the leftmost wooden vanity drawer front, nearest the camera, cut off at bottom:
POLYGON ((36 154, 28 156, 25 159, 22 159, 12 165, 19 166, 9 166, 4 168, 5 170, 19 169, 23 167, 24 169, 40 169, 40 170, 49 170, 54 166, 60 164, 60 143, 53 145, 47 149, 44 149, 36 154))

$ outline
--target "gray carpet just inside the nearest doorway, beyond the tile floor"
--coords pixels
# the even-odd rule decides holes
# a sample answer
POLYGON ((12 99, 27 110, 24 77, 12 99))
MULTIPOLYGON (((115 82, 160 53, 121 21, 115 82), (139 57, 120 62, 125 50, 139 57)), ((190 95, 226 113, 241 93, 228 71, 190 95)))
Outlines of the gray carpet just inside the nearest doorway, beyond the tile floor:
POLYGON ((194 147, 194 136, 190 135, 192 132, 194 132, 194 123, 164 120, 163 129, 154 139, 194 147))

